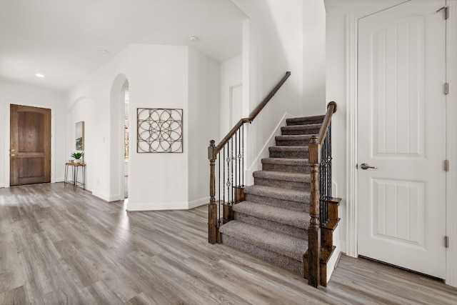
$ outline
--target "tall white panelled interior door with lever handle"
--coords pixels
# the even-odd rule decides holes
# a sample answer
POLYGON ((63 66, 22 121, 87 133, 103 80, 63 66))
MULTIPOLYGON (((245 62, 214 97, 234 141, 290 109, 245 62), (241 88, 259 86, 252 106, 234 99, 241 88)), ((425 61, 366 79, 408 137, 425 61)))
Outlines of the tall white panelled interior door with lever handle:
POLYGON ((358 24, 358 254, 441 279, 444 5, 409 1, 358 24))

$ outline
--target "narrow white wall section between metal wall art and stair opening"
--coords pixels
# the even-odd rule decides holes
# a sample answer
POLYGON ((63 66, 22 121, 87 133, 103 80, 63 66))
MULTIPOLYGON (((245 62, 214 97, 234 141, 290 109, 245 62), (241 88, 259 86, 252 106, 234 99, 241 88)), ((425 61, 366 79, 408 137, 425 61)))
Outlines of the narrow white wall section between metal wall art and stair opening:
POLYGON ((189 208, 209 203, 208 146, 219 136, 220 66, 189 48, 189 208))

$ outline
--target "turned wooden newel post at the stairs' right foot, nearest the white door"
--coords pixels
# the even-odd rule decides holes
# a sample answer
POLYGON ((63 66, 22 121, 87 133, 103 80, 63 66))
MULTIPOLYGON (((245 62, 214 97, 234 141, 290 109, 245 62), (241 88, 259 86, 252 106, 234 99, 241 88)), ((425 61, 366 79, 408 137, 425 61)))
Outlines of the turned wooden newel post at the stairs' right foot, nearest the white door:
POLYGON ((310 226, 308 229, 308 284, 318 287, 321 282, 321 223, 319 221, 319 161, 321 145, 317 136, 311 138, 309 144, 309 163, 311 163, 311 196, 310 226))

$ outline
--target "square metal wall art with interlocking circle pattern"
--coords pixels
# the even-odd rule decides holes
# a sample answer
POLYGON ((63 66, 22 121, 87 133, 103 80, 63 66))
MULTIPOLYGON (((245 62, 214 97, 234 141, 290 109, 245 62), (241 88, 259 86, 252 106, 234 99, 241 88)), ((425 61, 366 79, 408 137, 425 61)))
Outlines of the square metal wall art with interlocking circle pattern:
POLYGON ((183 152, 183 109, 137 109, 139 153, 183 152))

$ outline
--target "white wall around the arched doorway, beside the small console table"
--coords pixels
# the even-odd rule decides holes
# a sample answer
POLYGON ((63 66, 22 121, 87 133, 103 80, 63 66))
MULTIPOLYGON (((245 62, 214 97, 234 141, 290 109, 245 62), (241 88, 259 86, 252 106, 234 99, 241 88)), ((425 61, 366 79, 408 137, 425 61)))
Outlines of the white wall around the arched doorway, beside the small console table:
MULTIPOLYGON (((66 96, 66 156, 70 156, 75 149, 75 123, 84 121, 86 189, 106 201, 119 199, 116 194, 120 194, 120 190, 111 186, 111 173, 121 173, 121 162, 111 160, 111 155, 116 152, 111 148, 111 136, 116 132, 111 130, 111 87, 119 74, 126 74, 127 77, 131 74, 130 62, 131 51, 127 48, 87 76, 66 96)), ((123 84, 123 81, 119 84, 119 94, 123 84)), ((120 105, 119 101, 119 109, 120 105)))

